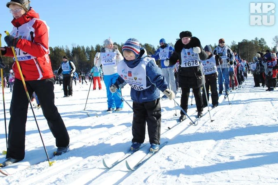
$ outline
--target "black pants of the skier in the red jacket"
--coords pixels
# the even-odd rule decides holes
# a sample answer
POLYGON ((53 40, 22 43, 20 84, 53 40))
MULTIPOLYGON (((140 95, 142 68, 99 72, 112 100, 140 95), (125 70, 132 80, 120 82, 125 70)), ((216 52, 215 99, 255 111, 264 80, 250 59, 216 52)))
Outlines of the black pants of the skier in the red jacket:
MULTIPOLYGON (((56 146, 66 147, 69 145, 69 135, 67 133, 67 129, 57 110, 57 107, 54 105, 54 78, 26 81, 25 83, 30 97, 33 92, 36 92, 43 115, 47 120, 50 131, 56 138, 56 146)), ((9 123, 8 151, 6 158, 24 159, 25 126, 28 104, 29 101, 22 81, 15 79, 10 105, 11 117, 9 123)), ((38 140, 37 142, 41 141, 38 140)))

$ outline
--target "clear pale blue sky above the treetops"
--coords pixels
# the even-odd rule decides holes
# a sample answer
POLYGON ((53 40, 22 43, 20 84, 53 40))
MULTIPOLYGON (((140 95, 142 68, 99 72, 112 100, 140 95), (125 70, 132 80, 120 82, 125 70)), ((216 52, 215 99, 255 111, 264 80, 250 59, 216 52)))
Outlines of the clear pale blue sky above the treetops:
MULTIPOLYGON (((2 45, 4 31, 12 30, 12 14, 1 0, 2 45)), ((94 0, 32 0, 31 6, 50 27, 51 47, 72 45, 95 46, 110 37, 114 42, 136 38, 155 47, 159 40, 175 43, 179 33, 192 32, 202 46, 218 44, 224 38, 228 45, 233 40, 252 40, 263 37, 269 47, 278 35, 277 12, 275 25, 250 26, 250 2, 275 1, 94 1, 94 0)))

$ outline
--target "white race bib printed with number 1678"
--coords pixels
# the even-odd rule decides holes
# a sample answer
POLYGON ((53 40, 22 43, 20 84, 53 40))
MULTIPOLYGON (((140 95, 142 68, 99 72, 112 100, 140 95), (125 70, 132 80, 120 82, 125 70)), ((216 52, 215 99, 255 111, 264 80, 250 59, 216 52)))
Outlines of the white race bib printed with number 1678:
POLYGON ((198 54, 193 53, 193 48, 183 48, 181 51, 181 60, 181 67, 200 66, 198 54))

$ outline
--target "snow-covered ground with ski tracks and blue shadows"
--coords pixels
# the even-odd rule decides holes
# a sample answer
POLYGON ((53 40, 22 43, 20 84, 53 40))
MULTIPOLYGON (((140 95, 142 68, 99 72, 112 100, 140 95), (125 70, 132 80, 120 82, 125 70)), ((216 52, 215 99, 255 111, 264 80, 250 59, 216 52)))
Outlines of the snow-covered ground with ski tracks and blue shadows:
MULTIPOLYGON (((168 141, 168 144, 135 171, 129 171, 125 160, 112 169, 106 169, 102 160, 105 158, 110 165, 129 149, 131 108, 125 103, 120 112, 104 112, 107 99, 103 88, 90 91, 84 111, 89 85, 82 88, 73 85, 73 97, 70 98, 62 98, 62 86, 55 85, 55 104, 69 132, 70 151, 52 158, 51 161, 56 162, 49 167, 29 110, 25 159, 21 165, 11 166, 16 173, 0 174, 1 184, 278 184, 277 90, 266 92, 266 88, 253 86, 253 77, 249 76, 243 89, 229 95, 231 105, 224 95, 220 96, 220 105, 211 110, 211 118, 215 121, 211 122, 207 113, 197 126, 190 126, 190 120, 186 119, 167 129, 177 123, 180 111, 177 107, 178 116, 173 116, 174 102, 162 100, 161 143, 168 141), (17 170, 29 163, 38 164, 17 170)), ((11 93, 8 89, 5 92, 8 124, 11 93)), ((130 88, 125 86, 122 95, 132 105, 129 92, 130 88)), ((180 103, 180 93, 176 101, 180 103)), ((2 151, 6 150, 2 100, 0 109, 2 151)), ((189 105, 188 113, 192 119, 197 114, 195 110, 195 105, 189 105)), ((52 157, 55 140, 41 109, 34 109, 34 112, 52 157)), ((147 134, 145 143, 145 147, 127 158, 130 165, 147 153, 147 134)), ((0 155, 0 161, 3 160, 5 156, 0 155)))

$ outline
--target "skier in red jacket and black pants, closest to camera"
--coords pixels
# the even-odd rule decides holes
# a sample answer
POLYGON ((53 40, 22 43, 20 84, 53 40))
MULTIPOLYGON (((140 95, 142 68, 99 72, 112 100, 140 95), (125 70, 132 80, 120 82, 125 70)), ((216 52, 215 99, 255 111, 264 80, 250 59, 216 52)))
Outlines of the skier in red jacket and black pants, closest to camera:
MULTIPOLYGON (((11 47, 15 48, 28 94, 36 93, 43 115, 56 139, 58 149, 55 155, 61 155, 67 151, 69 135, 54 105, 54 78, 48 56, 48 26, 30 7, 29 0, 11 0, 7 7, 12 13, 14 28, 5 37, 8 47, 1 47, 0 50, 3 55, 14 57, 11 47)), ((13 71, 15 80, 10 105, 8 150, 1 167, 19 162, 25 157, 25 125, 29 101, 16 64, 13 64, 13 71)))

